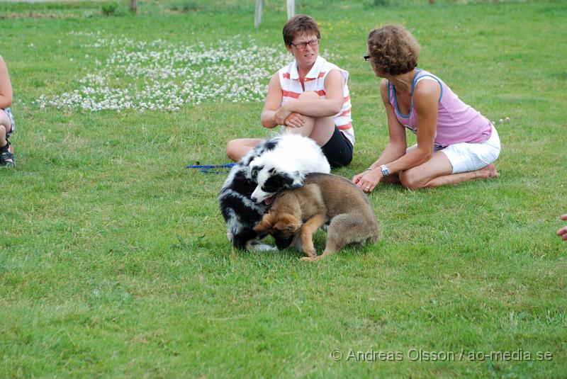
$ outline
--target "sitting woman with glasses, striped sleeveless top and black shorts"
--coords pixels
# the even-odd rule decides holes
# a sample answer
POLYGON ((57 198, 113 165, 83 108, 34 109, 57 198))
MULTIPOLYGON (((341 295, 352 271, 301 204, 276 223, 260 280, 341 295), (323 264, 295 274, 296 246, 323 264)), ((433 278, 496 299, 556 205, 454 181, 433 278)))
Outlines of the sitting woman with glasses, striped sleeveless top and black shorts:
MULTIPOLYGON (((282 125, 284 132, 312 138, 331 167, 346 166, 354 146, 349 73, 320 57, 319 40, 317 23, 309 16, 293 16, 283 26, 283 42, 295 60, 271 77, 261 121, 264 128, 282 125)), ((226 152, 237 161, 260 142, 232 140, 226 152)))

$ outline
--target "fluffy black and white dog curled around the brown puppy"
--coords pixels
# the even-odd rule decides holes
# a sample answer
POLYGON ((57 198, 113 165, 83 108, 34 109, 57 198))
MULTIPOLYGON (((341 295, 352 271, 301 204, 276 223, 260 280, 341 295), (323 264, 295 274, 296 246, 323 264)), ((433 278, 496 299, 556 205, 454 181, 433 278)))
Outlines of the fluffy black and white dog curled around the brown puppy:
MULTIPOLYGON (((266 234, 252 228, 269 210, 271 198, 283 188, 303 185, 310 172, 330 173, 319 145, 301 135, 278 135, 263 141, 232 167, 218 201, 234 247, 244 250, 274 250, 260 243, 266 234)), ((276 240, 279 249, 290 240, 276 240)))

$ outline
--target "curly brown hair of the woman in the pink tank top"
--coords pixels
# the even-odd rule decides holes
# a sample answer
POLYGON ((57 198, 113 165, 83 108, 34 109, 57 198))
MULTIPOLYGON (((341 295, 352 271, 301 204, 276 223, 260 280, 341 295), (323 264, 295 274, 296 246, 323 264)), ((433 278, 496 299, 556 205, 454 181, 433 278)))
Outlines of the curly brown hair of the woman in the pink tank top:
POLYGON ((380 74, 410 72, 417 66, 420 50, 420 44, 403 26, 386 25, 368 35, 368 53, 380 74))

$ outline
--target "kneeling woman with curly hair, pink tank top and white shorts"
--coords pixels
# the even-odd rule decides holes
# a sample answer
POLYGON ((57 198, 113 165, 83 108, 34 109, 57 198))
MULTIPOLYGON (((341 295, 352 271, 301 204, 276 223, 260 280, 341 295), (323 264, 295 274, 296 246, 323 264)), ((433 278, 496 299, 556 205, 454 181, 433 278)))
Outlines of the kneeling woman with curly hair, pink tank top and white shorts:
POLYGON ((383 78, 380 93, 388 115, 390 142, 369 169, 352 181, 370 193, 378 183, 417 189, 498 176, 500 154, 494 125, 459 99, 441 79, 417 69, 420 45, 403 26, 374 29, 369 61, 383 78), (405 129, 417 135, 407 146, 405 129))

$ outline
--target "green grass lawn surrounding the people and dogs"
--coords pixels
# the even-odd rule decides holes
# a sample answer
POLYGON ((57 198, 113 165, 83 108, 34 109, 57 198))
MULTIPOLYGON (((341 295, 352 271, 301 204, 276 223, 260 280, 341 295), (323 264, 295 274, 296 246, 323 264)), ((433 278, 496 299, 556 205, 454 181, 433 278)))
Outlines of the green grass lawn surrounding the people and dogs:
POLYGON ((140 1, 137 16, 1 3, 18 127, 0 169, 1 378, 565 377, 566 2, 296 2, 351 74, 357 144, 335 174, 386 144, 361 57, 395 22, 421 68, 495 121, 500 178, 381 186, 379 242, 318 264, 237 251, 225 176, 184 166, 269 135, 284 1, 264 1, 258 29, 252 0, 140 1))

